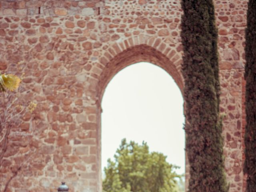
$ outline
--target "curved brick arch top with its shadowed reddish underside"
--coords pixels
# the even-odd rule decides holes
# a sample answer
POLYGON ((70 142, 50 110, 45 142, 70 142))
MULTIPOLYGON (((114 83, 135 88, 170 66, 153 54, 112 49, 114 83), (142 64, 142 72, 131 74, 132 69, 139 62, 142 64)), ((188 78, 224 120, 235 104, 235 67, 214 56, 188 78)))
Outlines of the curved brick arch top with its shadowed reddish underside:
POLYGON ((160 66, 172 76, 181 92, 183 77, 181 74, 182 56, 174 47, 168 46, 161 38, 139 35, 122 42, 115 42, 100 58, 103 67, 97 85, 97 97, 101 101, 104 90, 120 70, 137 62, 150 62, 160 66))

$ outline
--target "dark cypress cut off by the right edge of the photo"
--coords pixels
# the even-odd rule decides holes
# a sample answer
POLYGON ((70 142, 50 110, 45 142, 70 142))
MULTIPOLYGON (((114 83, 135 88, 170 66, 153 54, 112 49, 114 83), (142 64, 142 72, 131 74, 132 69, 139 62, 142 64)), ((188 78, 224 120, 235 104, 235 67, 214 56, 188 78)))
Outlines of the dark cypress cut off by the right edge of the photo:
POLYGON ((249 0, 247 12, 245 74, 246 127, 244 173, 247 174, 246 192, 256 191, 256 1, 249 0))

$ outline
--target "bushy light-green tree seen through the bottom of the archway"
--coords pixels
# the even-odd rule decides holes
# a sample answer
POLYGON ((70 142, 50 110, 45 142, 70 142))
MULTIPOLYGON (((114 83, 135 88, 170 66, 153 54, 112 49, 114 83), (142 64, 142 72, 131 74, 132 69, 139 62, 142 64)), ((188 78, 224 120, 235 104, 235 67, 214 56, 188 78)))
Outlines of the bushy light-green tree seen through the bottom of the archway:
POLYGON ((108 159, 104 168, 104 192, 178 192, 174 172, 177 168, 166 162, 166 156, 158 152, 149 152, 143 142, 126 142, 123 139, 116 150, 114 161, 108 159))

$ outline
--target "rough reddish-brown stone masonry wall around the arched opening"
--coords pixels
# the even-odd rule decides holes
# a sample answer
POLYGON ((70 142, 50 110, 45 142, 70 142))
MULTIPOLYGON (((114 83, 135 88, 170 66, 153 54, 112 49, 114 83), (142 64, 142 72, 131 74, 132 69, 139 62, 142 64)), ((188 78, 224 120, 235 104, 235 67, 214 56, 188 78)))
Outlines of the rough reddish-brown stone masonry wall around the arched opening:
MULTIPOLYGON (((247 0, 214 3, 226 176, 230 192, 244 192, 247 0)), ((146 61, 182 90, 181 15, 179 0, 0 0, 0 70, 22 77, 20 105, 37 103, 1 150, 0 191, 56 191, 65 181, 71 192, 100 192, 104 89, 146 61)))

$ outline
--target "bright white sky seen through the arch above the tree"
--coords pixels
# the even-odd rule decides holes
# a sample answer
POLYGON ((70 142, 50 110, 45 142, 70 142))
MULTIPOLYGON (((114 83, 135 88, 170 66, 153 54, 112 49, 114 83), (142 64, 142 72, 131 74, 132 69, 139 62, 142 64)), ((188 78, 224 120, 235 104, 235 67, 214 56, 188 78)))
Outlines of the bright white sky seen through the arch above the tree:
POLYGON ((106 87, 102 109, 102 173, 122 138, 146 141, 185 172, 183 98, 165 70, 146 62, 124 68, 106 87))

